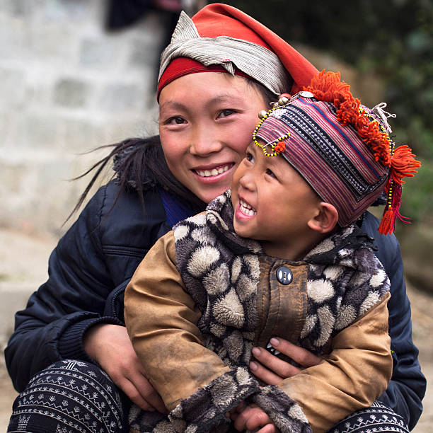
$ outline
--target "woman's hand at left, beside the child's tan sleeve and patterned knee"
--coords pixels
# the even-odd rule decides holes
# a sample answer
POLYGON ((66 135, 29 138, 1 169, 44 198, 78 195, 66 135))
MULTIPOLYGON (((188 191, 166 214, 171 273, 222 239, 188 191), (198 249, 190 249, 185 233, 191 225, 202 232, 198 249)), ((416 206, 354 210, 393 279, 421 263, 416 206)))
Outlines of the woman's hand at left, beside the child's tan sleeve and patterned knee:
POLYGON ((146 379, 125 326, 100 323, 86 331, 84 350, 112 381, 143 410, 168 413, 163 400, 146 379))

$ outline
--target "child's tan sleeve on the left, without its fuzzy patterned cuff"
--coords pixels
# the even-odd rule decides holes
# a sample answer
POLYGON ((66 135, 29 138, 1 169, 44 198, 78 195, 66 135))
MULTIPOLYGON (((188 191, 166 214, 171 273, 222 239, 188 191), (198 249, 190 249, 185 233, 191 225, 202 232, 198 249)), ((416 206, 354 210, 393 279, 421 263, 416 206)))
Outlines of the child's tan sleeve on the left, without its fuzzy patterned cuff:
POLYGON ((134 350, 170 410, 230 370, 204 347, 200 317, 175 267, 169 232, 149 250, 127 286, 125 322, 134 350))

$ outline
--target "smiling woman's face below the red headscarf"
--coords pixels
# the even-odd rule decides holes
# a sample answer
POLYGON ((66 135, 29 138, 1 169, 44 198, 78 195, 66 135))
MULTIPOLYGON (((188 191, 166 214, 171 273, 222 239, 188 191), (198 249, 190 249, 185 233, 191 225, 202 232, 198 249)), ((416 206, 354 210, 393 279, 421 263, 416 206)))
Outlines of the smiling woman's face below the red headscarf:
POLYGON ((266 105, 246 79, 220 72, 185 75, 164 87, 159 134, 175 178, 206 203, 228 189, 266 105))

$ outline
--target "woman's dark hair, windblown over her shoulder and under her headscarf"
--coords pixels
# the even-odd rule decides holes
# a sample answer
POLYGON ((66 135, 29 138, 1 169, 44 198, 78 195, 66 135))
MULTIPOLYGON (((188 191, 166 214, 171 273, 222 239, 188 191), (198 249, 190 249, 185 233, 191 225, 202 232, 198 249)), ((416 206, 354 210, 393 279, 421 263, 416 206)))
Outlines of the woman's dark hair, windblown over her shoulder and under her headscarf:
MULTIPOLYGON (((269 104, 272 100, 277 99, 274 93, 265 88, 265 86, 262 86, 258 81, 252 79, 246 80, 250 86, 253 86, 259 91, 265 103, 269 104)), ((119 192, 115 203, 122 190, 125 188, 134 188, 134 190, 137 190, 144 209, 144 190, 149 187, 163 187, 173 192, 175 195, 178 195, 178 197, 185 199, 192 207, 204 207, 202 200, 182 185, 168 169, 158 135, 147 138, 129 138, 120 143, 99 146, 93 149, 93 151, 108 148, 112 148, 110 154, 94 163, 86 172, 73 179, 81 179, 89 173, 94 173, 65 223, 81 207, 81 204, 86 200, 88 192, 93 185, 95 185, 96 180, 98 180, 98 177, 103 173, 111 160, 114 162, 115 169, 112 178, 115 178, 119 185, 119 192)))

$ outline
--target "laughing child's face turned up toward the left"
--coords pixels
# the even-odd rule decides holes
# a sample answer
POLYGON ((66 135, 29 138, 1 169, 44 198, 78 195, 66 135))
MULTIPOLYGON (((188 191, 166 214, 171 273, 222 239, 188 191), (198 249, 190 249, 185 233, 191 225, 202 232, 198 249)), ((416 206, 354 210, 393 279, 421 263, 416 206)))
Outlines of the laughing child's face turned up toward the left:
POLYGON ((250 144, 231 188, 239 236, 261 241, 268 255, 279 258, 289 258, 289 244, 306 243, 307 223, 318 214, 321 199, 282 156, 265 156, 250 144))

